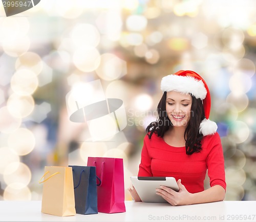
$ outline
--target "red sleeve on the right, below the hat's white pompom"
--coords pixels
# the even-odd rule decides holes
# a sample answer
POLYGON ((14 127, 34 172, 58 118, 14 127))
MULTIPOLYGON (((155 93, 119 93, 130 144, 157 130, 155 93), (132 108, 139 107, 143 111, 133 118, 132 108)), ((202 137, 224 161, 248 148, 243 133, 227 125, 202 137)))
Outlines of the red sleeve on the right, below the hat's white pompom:
POLYGON ((224 156, 219 134, 210 136, 207 145, 210 146, 206 158, 210 186, 220 185, 226 190, 224 156))

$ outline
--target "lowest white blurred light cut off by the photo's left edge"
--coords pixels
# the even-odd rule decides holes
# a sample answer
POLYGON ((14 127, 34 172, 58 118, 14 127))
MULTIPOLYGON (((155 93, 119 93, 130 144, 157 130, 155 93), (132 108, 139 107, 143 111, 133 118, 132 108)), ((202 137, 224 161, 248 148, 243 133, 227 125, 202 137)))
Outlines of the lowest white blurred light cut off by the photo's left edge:
POLYGON ((0 174, 4 174, 6 167, 13 162, 19 162, 19 156, 9 147, 0 147, 0 174))

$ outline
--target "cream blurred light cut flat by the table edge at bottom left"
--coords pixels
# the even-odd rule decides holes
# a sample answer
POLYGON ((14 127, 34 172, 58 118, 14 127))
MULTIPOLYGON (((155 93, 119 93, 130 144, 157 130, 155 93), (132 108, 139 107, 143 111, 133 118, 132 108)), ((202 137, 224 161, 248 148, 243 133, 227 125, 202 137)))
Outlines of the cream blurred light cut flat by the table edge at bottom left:
POLYGON ((31 191, 22 183, 12 183, 5 188, 5 201, 31 201, 31 191))

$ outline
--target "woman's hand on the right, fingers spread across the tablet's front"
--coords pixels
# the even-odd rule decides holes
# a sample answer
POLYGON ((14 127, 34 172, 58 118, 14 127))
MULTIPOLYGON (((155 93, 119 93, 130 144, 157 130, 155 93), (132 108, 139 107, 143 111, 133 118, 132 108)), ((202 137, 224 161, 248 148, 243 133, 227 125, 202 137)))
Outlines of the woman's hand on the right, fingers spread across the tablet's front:
POLYGON ((180 179, 177 181, 177 183, 180 188, 179 192, 166 186, 160 186, 161 189, 156 189, 157 194, 162 196, 164 200, 173 206, 192 204, 191 193, 187 191, 180 179))

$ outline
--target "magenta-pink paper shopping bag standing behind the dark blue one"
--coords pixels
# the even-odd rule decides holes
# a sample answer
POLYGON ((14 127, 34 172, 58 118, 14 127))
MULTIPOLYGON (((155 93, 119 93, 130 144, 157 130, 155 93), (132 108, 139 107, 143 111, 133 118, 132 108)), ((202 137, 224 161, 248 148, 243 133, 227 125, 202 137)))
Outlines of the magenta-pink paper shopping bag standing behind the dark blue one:
POLYGON ((123 159, 88 157, 88 166, 96 166, 101 184, 97 186, 98 212, 125 212, 123 159))

